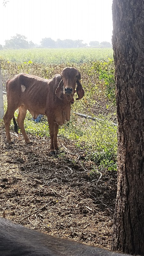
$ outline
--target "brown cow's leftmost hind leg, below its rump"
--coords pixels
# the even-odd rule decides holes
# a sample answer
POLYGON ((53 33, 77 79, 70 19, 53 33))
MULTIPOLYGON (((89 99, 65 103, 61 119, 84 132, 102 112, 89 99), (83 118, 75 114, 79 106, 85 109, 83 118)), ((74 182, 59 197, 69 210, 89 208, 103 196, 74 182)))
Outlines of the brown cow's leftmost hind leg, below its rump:
POLYGON ((6 140, 9 144, 13 144, 12 140, 11 140, 11 135, 10 135, 10 123, 12 120, 12 117, 14 115, 15 109, 9 111, 9 108, 7 108, 6 113, 3 117, 4 119, 4 125, 5 125, 5 133, 6 133, 6 140))

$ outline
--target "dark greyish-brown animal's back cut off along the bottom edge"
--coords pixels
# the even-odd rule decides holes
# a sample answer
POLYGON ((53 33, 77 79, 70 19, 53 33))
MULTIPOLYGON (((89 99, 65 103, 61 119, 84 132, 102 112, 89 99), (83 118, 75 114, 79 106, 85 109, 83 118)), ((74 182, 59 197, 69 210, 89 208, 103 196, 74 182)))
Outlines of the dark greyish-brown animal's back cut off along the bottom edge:
MULTIPOLYGON (((49 236, 0 218, 3 256, 128 256, 75 241, 49 236)), ((129 255, 130 256, 130 255, 129 255)))

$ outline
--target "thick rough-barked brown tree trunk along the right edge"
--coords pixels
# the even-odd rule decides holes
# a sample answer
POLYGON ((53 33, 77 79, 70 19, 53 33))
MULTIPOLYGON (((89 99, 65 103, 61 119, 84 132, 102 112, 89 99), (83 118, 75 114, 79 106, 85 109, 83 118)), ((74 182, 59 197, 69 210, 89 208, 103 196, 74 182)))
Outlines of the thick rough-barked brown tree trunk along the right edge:
POLYGON ((144 255, 144 1, 113 0, 118 117, 112 250, 144 255))

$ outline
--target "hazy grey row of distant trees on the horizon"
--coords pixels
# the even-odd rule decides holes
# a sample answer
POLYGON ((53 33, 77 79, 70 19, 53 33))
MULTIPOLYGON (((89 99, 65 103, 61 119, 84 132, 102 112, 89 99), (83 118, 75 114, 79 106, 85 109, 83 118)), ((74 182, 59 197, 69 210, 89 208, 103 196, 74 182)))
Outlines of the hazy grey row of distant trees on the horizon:
POLYGON ((71 40, 65 39, 57 41, 52 40, 50 37, 42 38, 40 45, 34 44, 32 41, 28 42, 26 36, 16 34, 12 36, 10 40, 5 40, 5 45, 0 44, 0 50, 2 49, 30 49, 30 48, 78 48, 78 47, 96 47, 96 48, 112 48, 109 42, 91 41, 90 46, 83 43, 83 40, 71 40))

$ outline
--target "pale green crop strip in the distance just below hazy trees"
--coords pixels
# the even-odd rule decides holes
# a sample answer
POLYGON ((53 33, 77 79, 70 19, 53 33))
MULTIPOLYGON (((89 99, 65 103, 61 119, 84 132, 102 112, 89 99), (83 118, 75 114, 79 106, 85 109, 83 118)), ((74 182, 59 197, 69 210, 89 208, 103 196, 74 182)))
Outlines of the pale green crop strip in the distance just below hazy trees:
POLYGON ((20 49, 0 50, 0 58, 12 62, 28 62, 43 64, 61 64, 75 62, 87 63, 95 60, 113 58, 111 48, 77 48, 77 49, 20 49))

